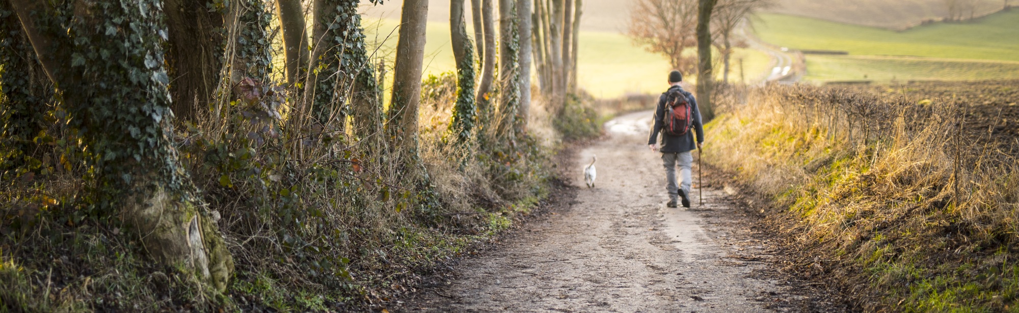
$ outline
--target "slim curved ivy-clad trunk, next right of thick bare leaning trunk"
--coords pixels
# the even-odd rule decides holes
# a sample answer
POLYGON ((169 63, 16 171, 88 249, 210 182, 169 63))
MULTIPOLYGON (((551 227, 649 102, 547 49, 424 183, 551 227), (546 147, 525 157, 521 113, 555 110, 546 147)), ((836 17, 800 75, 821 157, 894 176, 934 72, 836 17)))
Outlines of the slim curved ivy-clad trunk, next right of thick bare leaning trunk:
MULTIPOLYGON (((467 34, 464 12, 465 0, 449 2, 449 34, 452 54, 457 61, 457 105, 453 108, 452 127, 457 140, 471 142, 477 107, 474 102, 474 43, 467 34)), ((471 149, 467 149, 471 150, 471 149)))

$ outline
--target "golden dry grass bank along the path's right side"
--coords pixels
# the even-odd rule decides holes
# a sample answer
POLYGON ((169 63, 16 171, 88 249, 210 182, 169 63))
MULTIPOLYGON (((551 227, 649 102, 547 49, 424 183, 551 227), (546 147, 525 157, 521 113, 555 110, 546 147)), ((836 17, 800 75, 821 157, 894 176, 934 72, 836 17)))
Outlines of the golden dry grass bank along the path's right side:
POLYGON ((770 218, 810 256, 801 269, 841 278, 866 311, 1015 310, 1019 163, 958 127, 975 105, 931 96, 756 90, 709 124, 705 160, 787 208, 770 218))

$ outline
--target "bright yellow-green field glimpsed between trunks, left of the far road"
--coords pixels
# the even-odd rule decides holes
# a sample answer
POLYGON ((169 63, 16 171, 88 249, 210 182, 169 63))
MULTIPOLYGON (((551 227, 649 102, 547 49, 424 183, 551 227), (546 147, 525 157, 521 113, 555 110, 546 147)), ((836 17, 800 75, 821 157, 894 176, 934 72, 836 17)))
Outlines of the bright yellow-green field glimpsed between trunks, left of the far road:
MULTIPOLYGON (((369 45, 376 47, 382 43, 379 53, 391 59, 396 46, 397 20, 365 18, 363 24, 368 33, 369 45)), ((431 21, 428 23, 427 34, 425 74, 455 70, 449 43, 449 23, 431 21)), ((629 93, 660 92, 665 87, 668 61, 645 51, 623 34, 581 32, 579 58, 577 75, 580 85, 596 98, 613 99, 629 93)), ((740 58, 744 60, 747 80, 756 79, 771 66, 771 60, 766 54, 740 49, 733 56, 733 69, 730 73, 732 80, 740 79, 740 58)))

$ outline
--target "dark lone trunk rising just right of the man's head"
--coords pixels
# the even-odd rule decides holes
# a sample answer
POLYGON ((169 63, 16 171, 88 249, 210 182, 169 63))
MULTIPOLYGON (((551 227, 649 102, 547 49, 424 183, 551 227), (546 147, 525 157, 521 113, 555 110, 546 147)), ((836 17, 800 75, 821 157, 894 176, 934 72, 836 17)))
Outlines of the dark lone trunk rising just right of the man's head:
POLYGON ((714 71, 711 69, 711 11, 718 0, 699 0, 697 13, 697 57, 700 58, 697 73, 697 105, 702 121, 714 118, 711 92, 714 84, 714 71))

